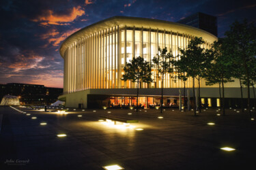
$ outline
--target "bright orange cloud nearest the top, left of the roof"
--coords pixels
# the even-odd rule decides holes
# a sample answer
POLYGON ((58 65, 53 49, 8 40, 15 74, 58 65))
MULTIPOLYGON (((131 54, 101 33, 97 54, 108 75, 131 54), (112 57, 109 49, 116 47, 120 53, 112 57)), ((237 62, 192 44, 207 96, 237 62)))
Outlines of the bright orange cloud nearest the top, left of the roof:
POLYGON ((85 11, 81 6, 72 7, 66 14, 55 14, 53 10, 46 10, 44 14, 38 16, 38 18, 33 19, 34 22, 41 22, 40 24, 46 26, 48 24, 63 25, 68 24, 66 22, 72 22, 79 16, 85 14, 85 11))

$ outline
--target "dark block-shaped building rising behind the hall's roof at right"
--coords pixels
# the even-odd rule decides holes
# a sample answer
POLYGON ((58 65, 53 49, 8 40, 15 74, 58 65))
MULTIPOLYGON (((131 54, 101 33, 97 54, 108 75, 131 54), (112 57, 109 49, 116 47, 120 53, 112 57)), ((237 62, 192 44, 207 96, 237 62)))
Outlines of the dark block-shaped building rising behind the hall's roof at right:
POLYGON ((209 33, 212 33, 218 37, 218 27, 217 27, 217 17, 210 16, 208 14, 203 14, 197 12, 196 14, 190 15, 182 20, 177 21, 180 24, 186 24, 198 29, 203 29, 209 33))

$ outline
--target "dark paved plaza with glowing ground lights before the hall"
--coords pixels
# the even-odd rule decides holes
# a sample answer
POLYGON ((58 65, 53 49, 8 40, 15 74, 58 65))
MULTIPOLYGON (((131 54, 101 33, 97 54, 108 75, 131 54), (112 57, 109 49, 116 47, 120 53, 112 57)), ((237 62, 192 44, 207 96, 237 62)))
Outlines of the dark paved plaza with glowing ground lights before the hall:
POLYGON ((68 114, 58 114, 14 108, 0 107, 3 115, 0 169, 103 169, 107 165, 124 169, 255 169, 256 166, 256 120, 233 108, 227 109, 226 116, 218 116, 220 112, 216 109, 202 109, 199 116, 193 116, 193 111, 177 109, 160 114, 156 109, 141 109, 136 113, 130 109, 70 108, 68 114), (100 116, 139 122, 132 126, 107 124, 99 121, 100 116), (58 137, 59 134, 66 136, 58 137), (224 147, 236 150, 221 150, 224 147))

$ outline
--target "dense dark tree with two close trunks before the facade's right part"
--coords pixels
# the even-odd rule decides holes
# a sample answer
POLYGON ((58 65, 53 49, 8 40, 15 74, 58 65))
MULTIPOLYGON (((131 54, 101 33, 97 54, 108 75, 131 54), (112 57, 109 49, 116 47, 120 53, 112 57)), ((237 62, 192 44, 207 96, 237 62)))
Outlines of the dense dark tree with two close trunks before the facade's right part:
MULTIPOLYGON (((182 63, 182 69, 186 72, 186 76, 193 78, 193 99, 195 102, 195 79, 198 80, 199 86, 199 112, 201 107, 200 99, 200 80, 203 78, 203 71, 210 65, 210 51, 201 48, 204 43, 201 37, 195 37, 188 43, 188 48, 180 50, 180 62, 182 63)), ((194 114, 196 116, 196 105, 194 108, 194 114)))

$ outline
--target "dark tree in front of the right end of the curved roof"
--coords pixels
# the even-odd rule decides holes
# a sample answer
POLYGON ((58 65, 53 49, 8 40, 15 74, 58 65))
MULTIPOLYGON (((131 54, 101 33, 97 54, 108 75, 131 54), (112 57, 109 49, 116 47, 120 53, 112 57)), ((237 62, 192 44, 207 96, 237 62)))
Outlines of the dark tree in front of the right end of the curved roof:
POLYGON ((225 54, 225 39, 218 39, 218 41, 214 41, 212 44, 212 56, 214 57, 214 61, 209 65, 209 67, 205 68, 204 78, 206 80, 206 84, 219 84, 219 90, 222 84, 222 93, 220 90, 220 99, 221 99, 221 111, 223 115, 225 115, 225 88, 224 84, 227 82, 233 82, 232 78, 232 61, 229 55, 225 54))

